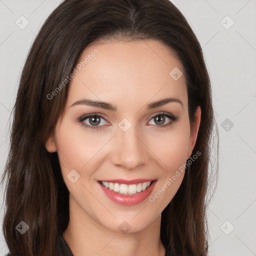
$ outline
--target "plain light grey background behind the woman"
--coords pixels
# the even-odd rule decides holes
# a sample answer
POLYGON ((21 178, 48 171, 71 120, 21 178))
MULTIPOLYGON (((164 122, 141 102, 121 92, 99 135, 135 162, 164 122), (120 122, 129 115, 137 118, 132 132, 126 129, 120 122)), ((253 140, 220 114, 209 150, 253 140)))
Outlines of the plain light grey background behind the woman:
MULTIPOLYGON (((256 255, 256 0, 172 2, 202 46, 219 129, 219 179, 208 207, 209 255, 256 255), (226 29, 232 20, 234 24, 226 29)), ((38 29, 59 3, 0 0, 0 174, 8 153, 8 119, 24 60, 38 29), (21 15, 29 21, 24 29, 15 24, 21 15)), ((2 197, 1 188, 1 202, 2 197)), ((0 223, 2 215, 3 206, 0 223)), ((6 252, 0 234, 0 255, 6 252)))

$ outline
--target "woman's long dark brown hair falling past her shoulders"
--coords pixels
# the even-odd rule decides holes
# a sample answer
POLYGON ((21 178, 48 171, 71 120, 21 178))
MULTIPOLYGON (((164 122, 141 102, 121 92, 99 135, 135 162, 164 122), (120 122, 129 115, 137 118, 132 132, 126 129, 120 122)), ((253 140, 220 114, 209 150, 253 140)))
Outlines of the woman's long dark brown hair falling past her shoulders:
POLYGON ((68 83, 53 98, 47 95, 73 71, 87 45, 111 39, 159 40, 183 65, 191 124, 196 107, 201 107, 192 152, 200 156, 186 167, 178 191, 162 212, 160 238, 166 255, 207 254, 206 193, 217 177, 217 167, 209 175, 217 128, 210 79, 195 34, 169 0, 64 0, 32 44, 13 108, 1 180, 7 180, 3 234, 12 256, 61 255, 56 241, 69 221, 69 192, 57 153, 47 152, 45 141, 63 112, 68 83), (24 234, 15 228, 20 221, 29 226, 24 234))

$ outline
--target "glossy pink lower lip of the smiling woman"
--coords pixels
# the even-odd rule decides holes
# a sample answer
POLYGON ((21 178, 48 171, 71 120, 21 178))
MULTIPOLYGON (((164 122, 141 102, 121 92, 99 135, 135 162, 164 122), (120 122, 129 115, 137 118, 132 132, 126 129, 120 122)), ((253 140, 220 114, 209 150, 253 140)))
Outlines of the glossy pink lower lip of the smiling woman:
POLYGON ((145 190, 132 195, 119 194, 113 190, 106 188, 99 182, 98 184, 110 200, 122 205, 134 205, 144 201, 149 196, 149 194, 152 192, 154 188, 156 181, 157 180, 153 180, 150 186, 148 186, 145 190))

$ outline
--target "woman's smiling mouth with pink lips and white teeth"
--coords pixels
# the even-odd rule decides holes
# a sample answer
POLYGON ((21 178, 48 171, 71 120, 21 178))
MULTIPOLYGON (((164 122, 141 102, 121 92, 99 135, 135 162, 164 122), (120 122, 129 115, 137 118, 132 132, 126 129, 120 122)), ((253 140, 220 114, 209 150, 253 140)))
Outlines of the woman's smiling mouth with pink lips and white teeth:
POLYGON ((105 195, 118 204, 132 205, 146 199, 157 179, 98 180, 105 195))

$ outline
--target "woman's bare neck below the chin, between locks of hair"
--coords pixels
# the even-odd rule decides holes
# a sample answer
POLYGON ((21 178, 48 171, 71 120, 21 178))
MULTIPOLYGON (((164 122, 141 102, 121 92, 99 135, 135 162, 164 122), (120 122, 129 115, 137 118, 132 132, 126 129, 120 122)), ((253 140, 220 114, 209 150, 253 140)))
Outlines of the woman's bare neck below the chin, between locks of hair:
POLYGON ((160 241, 159 215, 143 230, 115 232, 104 227, 69 198, 69 223, 62 236, 74 256, 164 256, 165 249, 160 241))

